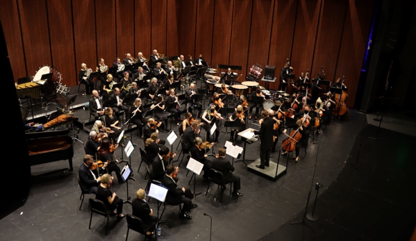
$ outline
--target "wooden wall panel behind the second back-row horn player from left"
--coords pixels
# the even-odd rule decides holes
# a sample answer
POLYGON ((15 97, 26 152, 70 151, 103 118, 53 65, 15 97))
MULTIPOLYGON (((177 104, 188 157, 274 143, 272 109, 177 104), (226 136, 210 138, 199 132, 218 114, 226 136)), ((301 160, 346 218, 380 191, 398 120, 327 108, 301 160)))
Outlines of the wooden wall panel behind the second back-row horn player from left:
POLYGON ((115 0, 95 1, 95 19, 97 24, 97 57, 103 58, 104 63, 108 67, 112 67, 117 57, 115 0))

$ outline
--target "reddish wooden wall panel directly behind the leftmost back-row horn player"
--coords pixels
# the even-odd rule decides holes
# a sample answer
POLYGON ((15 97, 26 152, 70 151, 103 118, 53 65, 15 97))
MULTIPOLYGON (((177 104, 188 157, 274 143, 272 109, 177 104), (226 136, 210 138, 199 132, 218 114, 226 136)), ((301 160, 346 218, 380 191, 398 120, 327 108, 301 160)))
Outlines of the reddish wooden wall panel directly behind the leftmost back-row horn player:
POLYGON ((98 65, 95 36, 94 0, 72 0, 74 17, 75 61, 77 73, 81 64, 95 71, 98 65))

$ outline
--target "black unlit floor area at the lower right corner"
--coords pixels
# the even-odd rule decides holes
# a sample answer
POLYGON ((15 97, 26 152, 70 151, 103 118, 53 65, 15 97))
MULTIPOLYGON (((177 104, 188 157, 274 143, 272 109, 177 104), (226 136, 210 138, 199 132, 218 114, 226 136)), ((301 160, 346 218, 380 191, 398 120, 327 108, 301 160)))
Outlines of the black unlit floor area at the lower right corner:
MULTIPOLYGON (((315 230, 307 224, 290 225, 302 219, 303 209, 261 240, 409 240, 416 224, 416 140, 386 129, 376 140, 367 138, 375 134, 371 125, 361 132, 348 164, 317 199, 317 222, 306 220, 315 230)), ((307 213, 312 212, 310 204, 307 213)))

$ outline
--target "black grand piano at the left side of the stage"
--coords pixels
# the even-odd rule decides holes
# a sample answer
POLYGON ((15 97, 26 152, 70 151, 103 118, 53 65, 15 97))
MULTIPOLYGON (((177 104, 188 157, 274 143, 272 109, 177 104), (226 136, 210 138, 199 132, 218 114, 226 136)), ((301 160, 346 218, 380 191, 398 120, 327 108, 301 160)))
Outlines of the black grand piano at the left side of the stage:
POLYGON ((69 169, 64 169, 73 171, 74 141, 69 133, 70 130, 26 133, 31 166, 68 160, 69 169))

